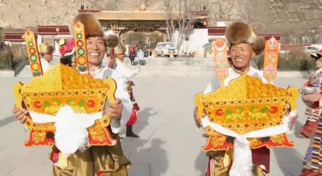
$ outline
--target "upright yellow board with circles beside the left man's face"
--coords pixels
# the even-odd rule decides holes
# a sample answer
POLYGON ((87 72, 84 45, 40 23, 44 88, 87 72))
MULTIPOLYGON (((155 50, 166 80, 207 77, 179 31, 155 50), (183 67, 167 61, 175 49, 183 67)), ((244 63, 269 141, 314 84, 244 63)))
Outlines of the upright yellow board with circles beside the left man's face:
POLYGON ((88 72, 89 65, 87 60, 86 34, 84 25, 80 22, 73 27, 73 37, 75 39, 76 68, 79 71, 88 72))

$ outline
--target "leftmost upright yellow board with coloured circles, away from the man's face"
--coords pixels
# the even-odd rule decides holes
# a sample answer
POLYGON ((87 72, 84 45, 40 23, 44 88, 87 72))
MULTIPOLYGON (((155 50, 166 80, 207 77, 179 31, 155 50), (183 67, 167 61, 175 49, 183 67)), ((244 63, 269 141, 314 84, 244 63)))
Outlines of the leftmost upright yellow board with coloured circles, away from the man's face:
POLYGON ((38 53, 37 41, 35 34, 27 30, 24 34, 24 39, 26 43, 26 49, 28 53, 28 59, 30 62, 31 72, 33 76, 41 76, 43 75, 40 57, 38 53))

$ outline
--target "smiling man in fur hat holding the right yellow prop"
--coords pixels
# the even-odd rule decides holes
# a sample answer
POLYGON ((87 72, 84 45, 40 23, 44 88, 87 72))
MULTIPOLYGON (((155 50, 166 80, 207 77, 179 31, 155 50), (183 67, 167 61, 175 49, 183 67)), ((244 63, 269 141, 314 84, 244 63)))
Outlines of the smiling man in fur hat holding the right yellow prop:
MULTIPOLYGON (((263 72, 250 66, 252 58, 260 54, 265 47, 264 38, 257 37, 257 33, 247 24, 243 22, 235 22, 231 24, 225 33, 228 41, 232 66, 228 69, 228 77, 225 85, 240 75, 248 74, 254 77, 263 78, 263 72)), ((220 82, 213 77, 207 85, 204 94, 214 92, 220 87, 220 82)), ((194 111, 194 119, 198 127, 202 127, 202 123, 197 114, 197 108, 194 111)), ((294 126, 296 117, 291 118, 290 126, 294 126)), ((231 161, 231 150, 228 151, 211 151, 207 153, 209 162, 207 166, 206 176, 229 175, 231 161)), ((269 172, 270 150, 267 147, 261 147, 252 150, 253 155, 253 174, 256 176, 265 175, 269 172)), ((243 175, 241 173, 240 175, 243 175)), ((237 175, 233 175, 237 176, 237 175)))

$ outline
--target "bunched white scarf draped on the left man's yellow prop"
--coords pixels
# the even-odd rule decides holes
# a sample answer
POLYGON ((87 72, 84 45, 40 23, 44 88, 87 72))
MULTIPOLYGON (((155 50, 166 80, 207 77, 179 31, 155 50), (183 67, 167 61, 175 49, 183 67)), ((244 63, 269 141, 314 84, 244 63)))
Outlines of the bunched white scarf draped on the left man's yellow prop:
POLYGON ((74 113, 68 105, 61 107, 56 116, 29 111, 34 123, 55 123, 55 145, 68 156, 77 149, 89 147, 88 127, 94 125, 95 120, 102 118, 102 112, 94 114, 74 113))

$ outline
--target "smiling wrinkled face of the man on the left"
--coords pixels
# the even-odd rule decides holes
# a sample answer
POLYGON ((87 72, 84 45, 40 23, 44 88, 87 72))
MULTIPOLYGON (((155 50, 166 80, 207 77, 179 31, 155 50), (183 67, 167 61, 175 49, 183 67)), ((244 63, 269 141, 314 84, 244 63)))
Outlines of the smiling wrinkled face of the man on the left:
POLYGON ((86 39, 87 57, 89 64, 98 66, 101 64, 106 51, 102 37, 89 37, 86 39))

